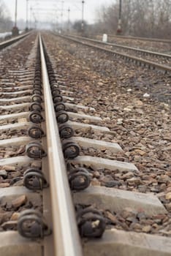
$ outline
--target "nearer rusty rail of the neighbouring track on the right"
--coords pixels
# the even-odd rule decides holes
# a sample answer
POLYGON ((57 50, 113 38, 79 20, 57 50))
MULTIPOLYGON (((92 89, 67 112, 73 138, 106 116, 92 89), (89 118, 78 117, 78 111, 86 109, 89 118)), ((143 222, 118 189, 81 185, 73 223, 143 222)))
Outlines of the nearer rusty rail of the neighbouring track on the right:
POLYGON ((135 56, 131 56, 131 55, 128 55, 126 53, 118 53, 115 50, 109 50, 107 48, 102 48, 102 47, 99 47, 97 45, 92 45, 92 44, 90 44, 88 42, 82 42, 80 40, 74 39, 73 37, 63 36, 63 35, 58 35, 58 36, 66 38, 66 39, 70 39, 73 42, 78 42, 78 43, 80 43, 82 45, 86 45, 86 46, 89 46, 89 47, 92 47, 92 48, 96 48, 98 50, 103 50, 103 51, 105 51, 107 53, 112 53, 113 55, 121 56, 124 59, 129 59, 131 61, 134 61, 136 64, 143 64, 143 65, 148 66, 148 67, 153 67, 153 69, 159 69, 159 70, 162 70, 164 72, 171 72, 171 67, 166 66, 166 65, 158 64, 156 62, 148 61, 148 60, 145 60, 145 59, 142 59, 142 58, 137 58, 135 56))

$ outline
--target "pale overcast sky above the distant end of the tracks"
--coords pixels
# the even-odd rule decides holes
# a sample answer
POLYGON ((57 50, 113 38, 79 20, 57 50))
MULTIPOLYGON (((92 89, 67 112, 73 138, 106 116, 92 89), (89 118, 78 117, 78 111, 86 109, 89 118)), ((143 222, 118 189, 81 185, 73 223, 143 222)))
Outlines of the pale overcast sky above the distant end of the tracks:
MULTIPOLYGON (((70 20, 79 20, 82 17, 82 0, 64 0, 64 16, 63 20, 67 20, 68 12, 67 10, 70 8, 70 20)), ((115 0, 85 0, 84 4, 84 18, 88 21, 88 23, 93 23, 96 18, 96 10, 99 7, 107 6, 113 4, 115 0)), ((9 13, 12 17, 12 20, 15 19, 15 0, 4 0, 4 4, 6 4, 9 9, 9 13)), ((58 22, 61 20, 61 0, 28 0, 28 18, 30 15, 30 10, 35 12, 38 20, 48 19, 54 20, 58 19, 58 22), (38 9, 41 9, 38 11, 38 9), (50 9, 49 11, 45 11, 50 9), (58 10, 55 12, 55 10, 58 10), (57 18, 58 16, 58 18, 57 18)), ((33 12, 32 11, 32 12, 33 12)), ((18 0, 18 19, 23 18, 26 20, 26 0, 18 0)), ((33 18, 33 17, 32 17, 33 18)))

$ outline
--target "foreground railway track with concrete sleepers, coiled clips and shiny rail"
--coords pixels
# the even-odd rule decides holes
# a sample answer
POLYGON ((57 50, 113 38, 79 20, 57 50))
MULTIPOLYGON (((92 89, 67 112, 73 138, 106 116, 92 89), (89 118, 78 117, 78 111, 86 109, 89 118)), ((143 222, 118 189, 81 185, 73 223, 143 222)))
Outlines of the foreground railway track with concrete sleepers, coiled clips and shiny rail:
POLYGON ((1 255, 170 255, 170 211, 151 186, 140 191, 140 170, 80 104, 77 74, 48 37, 0 56, 1 255))

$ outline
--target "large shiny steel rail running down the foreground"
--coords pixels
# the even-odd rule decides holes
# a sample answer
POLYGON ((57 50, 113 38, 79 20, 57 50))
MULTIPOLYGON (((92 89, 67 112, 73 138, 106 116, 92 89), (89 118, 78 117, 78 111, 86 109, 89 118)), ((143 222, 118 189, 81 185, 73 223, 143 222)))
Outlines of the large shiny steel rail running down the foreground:
POLYGON ((75 210, 66 176, 66 166, 58 135, 58 126, 50 92, 42 38, 39 35, 42 84, 45 95, 47 156, 49 161, 50 192, 53 214, 53 236, 56 256, 81 256, 75 210))

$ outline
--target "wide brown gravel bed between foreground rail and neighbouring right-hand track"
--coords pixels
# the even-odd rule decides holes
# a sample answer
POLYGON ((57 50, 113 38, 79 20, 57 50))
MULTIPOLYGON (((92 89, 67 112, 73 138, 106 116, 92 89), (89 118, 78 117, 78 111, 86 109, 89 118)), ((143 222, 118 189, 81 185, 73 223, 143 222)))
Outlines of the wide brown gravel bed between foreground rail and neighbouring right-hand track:
POLYGON ((95 108, 103 126, 111 130, 111 134, 104 135, 91 128, 77 129, 75 135, 113 141, 123 148, 123 153, 114 155, 81 148, 81 154, 132 162, 140 171, 120 173, 88 167, 91 185, 152 193, 168 211, 152 217, 131 209, 124 209, 122 214, 101 209, 107 227, 170 236, 170 75, 136 67, 54 36, 44 38, 67 90, 77 89, 78 102, 95 108))

